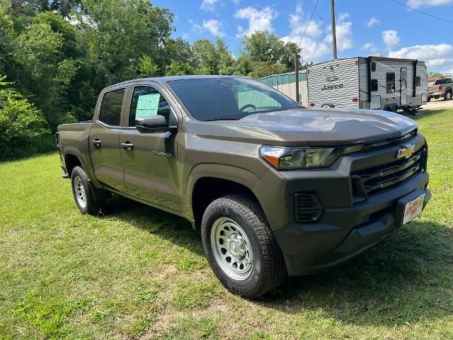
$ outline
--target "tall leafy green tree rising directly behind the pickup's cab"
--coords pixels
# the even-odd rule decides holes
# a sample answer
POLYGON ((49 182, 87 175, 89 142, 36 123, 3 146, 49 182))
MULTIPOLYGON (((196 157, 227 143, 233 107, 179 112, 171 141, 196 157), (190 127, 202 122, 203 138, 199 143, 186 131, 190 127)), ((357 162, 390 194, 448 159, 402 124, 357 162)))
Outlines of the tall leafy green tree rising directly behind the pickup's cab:
POLYGON ((96 91, 136 77, 143 55, 163 59, 161 46, 174 29, 168 9, 148 0, 82 0, 82 8, 77 21, 96 91))

